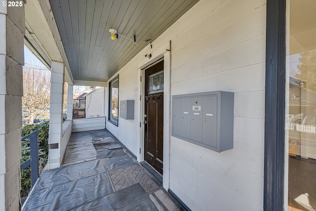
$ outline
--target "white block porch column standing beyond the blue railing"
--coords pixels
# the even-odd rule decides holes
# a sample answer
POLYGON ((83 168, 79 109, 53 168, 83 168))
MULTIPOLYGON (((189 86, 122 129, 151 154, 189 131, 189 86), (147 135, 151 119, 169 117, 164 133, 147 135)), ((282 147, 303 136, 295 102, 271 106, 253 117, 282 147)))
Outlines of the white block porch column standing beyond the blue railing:
POLYGON ((60 144, 63 131, 64 63, 51 62, 48 169, 60 167, 60 144))

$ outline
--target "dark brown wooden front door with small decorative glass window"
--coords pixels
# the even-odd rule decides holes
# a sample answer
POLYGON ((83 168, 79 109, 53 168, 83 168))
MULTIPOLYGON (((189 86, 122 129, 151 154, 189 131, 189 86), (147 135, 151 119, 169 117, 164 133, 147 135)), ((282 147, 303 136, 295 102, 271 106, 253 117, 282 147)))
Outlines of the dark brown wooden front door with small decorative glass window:
POLYGON ((145 161, 162 174, 163 61, 145 70, 145 161))

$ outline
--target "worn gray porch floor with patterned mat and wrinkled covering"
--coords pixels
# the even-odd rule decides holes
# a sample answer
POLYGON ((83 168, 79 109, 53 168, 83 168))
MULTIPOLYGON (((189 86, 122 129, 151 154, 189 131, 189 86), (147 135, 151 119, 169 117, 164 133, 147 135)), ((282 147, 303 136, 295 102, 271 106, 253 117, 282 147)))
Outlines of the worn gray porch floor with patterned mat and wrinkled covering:
POLYGON ((77 132, 64 165, 44 171, 23 211, 178 211, 169 194, 106 130, 77 132))

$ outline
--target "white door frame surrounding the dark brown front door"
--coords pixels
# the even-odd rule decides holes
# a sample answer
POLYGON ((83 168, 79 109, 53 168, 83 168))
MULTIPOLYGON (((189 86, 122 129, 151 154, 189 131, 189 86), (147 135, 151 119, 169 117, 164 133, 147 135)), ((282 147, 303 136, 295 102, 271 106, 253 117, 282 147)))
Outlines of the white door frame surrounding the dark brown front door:
MULTIPOLYGON (((153 48, 155 44, 153 43, 153 48)), ((146 49, 146 48, 145 48, 146 49)), ((155 48, 154 48, 155 49, 155 48)), ((163 180, 162 186, 165 190, 169 189, 169 171, 170 171, 170 73, 171 73, 171 41, 160 45, 158 49, 152 50, 152 58, 142 59, 142 62, 139 64, 138 69, 138 80, 139 80, 139 100, 137 104, 138 108, 138 120, 140 123, 140 129, 137 134, 138 136, 138 144, 137 149, 139 149, 139 154, 137 155, 137 161, 142 162, 144 161, 145 157, 145 127, 143 124, 144 121, 144 112, 145 112, 145 68, 149 65, 155 63, 159 59, 163 58, 163 180)), ((144 55, 146 51, 144 51, 144 55)))

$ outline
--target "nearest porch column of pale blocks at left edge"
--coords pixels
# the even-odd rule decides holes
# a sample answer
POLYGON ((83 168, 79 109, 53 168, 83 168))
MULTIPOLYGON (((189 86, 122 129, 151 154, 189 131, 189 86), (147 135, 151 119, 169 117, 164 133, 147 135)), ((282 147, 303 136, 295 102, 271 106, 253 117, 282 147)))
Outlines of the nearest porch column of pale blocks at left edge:
POLYGON ((21 206, 24 34, 24 2, 21 7, 0 6, 0 211, 21 206))

